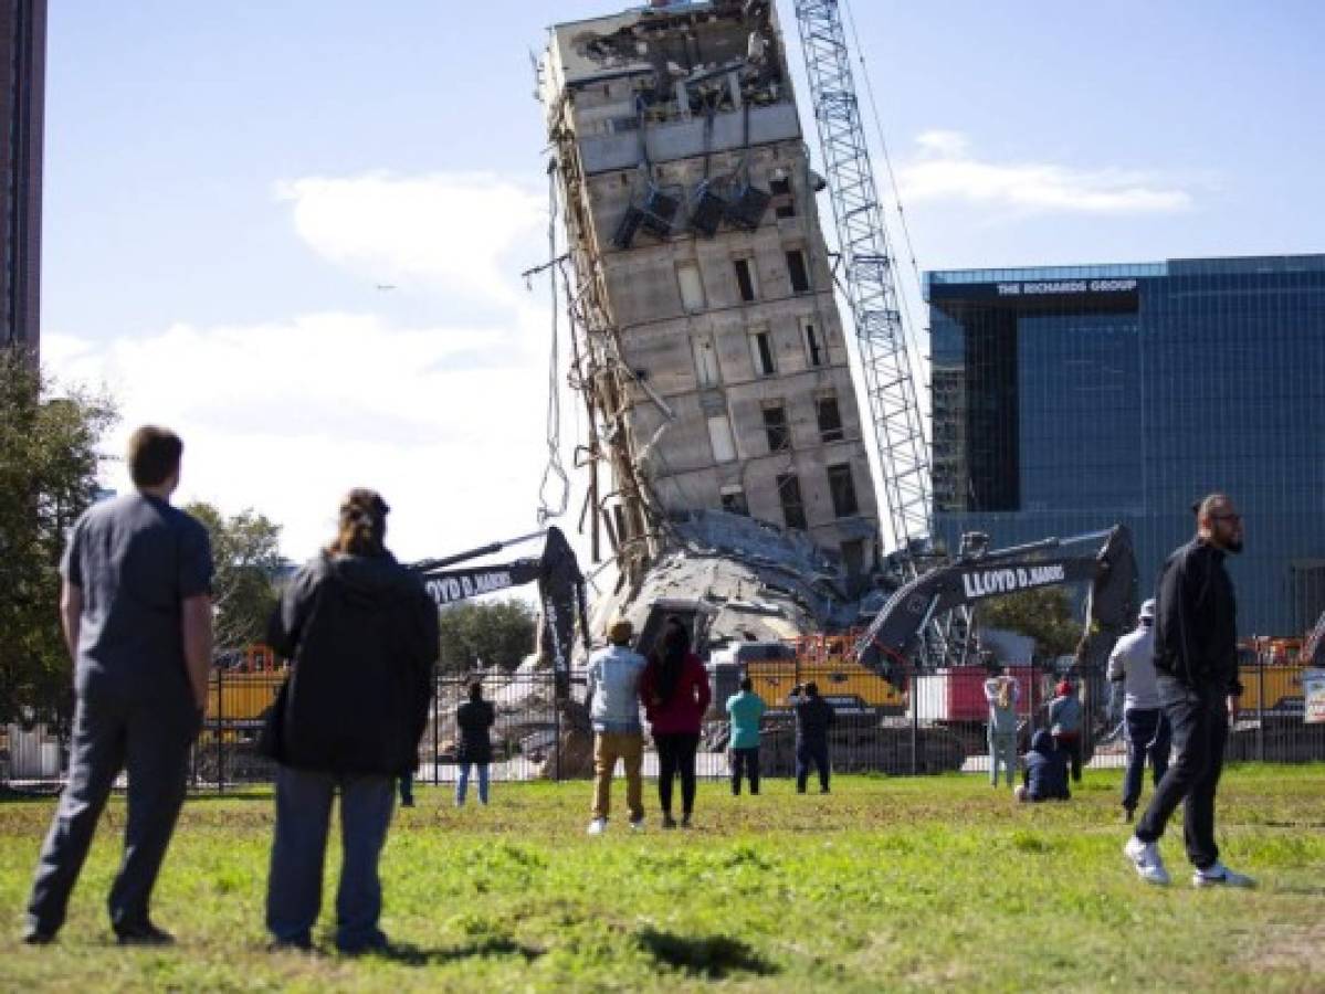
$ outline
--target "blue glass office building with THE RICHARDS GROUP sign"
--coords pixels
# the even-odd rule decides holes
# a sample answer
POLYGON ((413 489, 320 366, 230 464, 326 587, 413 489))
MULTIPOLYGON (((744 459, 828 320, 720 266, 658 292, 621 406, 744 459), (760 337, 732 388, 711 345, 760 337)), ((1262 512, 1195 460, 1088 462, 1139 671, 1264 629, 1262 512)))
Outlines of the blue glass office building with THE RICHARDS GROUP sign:
POLYGON ((1239 634, 1325 610, 1325 255, 928 273, 950 549, 1128 524, 1141 596, 1224 491, 1239 634))

